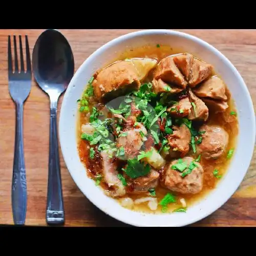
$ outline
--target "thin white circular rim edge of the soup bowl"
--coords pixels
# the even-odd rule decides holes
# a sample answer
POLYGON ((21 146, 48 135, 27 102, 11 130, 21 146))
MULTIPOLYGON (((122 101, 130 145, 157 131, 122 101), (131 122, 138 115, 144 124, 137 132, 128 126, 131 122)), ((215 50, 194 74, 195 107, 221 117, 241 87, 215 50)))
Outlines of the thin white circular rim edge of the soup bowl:
MULTIPOLYGON (((251 144, 250 144, 250 151, 248 151, 248 152, 250 152, 250 155, 248 156, 248 161, 244 165, 244 169, 243 169, 242 174, 240 174, 239 181, 237 181, 236 184, 233 184, 233 188, 232 189, 228 189, 229 192, 225 194, 224 198, 222 198, 218 202, 214 203, 214 207, 211 207, 210 209, 206 210, 205 212, 202 212, 198 217, 190 218, 188 221, 185 221, 182 224, 182 226, 186 226, 186 225, 189 225, 191 223, 195 223, 195 222, 197 222, 199 220, 202 220, 205 217, 211 215, 212 212, 214 212, 217 209, 219 209, 222 205, 224 205, 232 197, 232 195, 236 192, 236 190, 240 186, 241 182, 243 181, 243 179, 244 179, 244 177, 245 177, 245 175, 246 175, 246 173, 248 171, 250 162, 252 160, 253 152, 254 152, 254 145, 255 145, 255 139, 256 139, 256 132, 255 132, 256 122, 255 122, 255 113, 254 113, 254 107, 253 107, 252 99, 251 99, 249 90, 248 90, 248 88, 246 86, 246 83, 245 83, 244 79, 242 78, 241 74, 236 69, 236 67, 234 67, 232 62, 224 54, 222 54, 214 46, 210 45, 208 42, 204 41, 203 39, 200 39, 197 36, 190 35, 188 33, 177 31, 177 30, 148 29, 148 30, 139 30, 139 31, 135 31, 135 32, 130 32, 130 33, 118 36, 118 37, 116 37, 116 38, 106 42, 104 45, 102 45, 101 47, 96 49, 87 59, 85 59, 83 61, 83 63, 77 69, 77 71, 75 72, 74 76, 72 77, 72 79, 71 79, 71 81, 69 83, 67 91, 66 91, 66 93, 65 93, 65 95, 63 97, 63 100, 62 100, 62 105, 63 105, 63 102, 65 102, 65 99, 67 97, 66 95, 69 93, 69 91, 70 91, 70 89, 72 87, 71 84, 73 84, 74 80, 77 77, 80 76, 81 71, 84 69, 84 67, 87 65, 88 62, 90 62, 91 60, 94 59, 94 57, 96 57, 97 55, 103 53, 105 51, 105 49, 108 49, 111 46, 115 47, 115 45, 118 44, 118 42, 120 42, 120 41, 125 41, 127 39, 132 38, 132 37, 145 36, 145 35, 154 35, 154 34, 159 34, 159 33, 160 34, 167 34, 167 35, 174 35, 174 36, 181 36, 181 37, 185 37, 187 39, 193 40, 194 42, 196 42, 196 44, 201 45, 204 48, 207 48, 207 50, 213 52, 215 55, 218 56, 218 58, 223 59, 226 62, 226 65, 232 70, 233 76, 235 76, 239 80, 238 83, 241 84, 241 87, 243 87, 243 93, 245 94, 245 97, 248 100, 248 104, 250 105, 250 120, 251 120, 250 121, 250 125, 251 125, 251 129, 252 129, 252 132, 253 132, 254 136, 253 136, 253 138, 251 138, 252 141, 251 141, 251 144), (254 122, 253 122, 253 120, 254 120, 254 122)), ((76 184, 76 186, 80 189, 82 194, 84 196, 86 196, 89 201, 91 201, 91 203, 93 203, 97 208, 99 208, 100 210, 105 212, 106 215, 109 215, 109 216, 111 216, 112 218, 114 218, 114 219, 116 219, 118 221, 121 221, 121 222, 126 223, 126 224, 130 224, 130 225, 133 225, 133 226, 147 226, 147 225, 141 225, 138 222, 134 221, 133 219, 122 218, 121 215, 113 214, 113 212, 109 212, 109 211, 103 209, 100 206, 100 203, 97 202, 97 200, 94 200, 93 197, 91 197, 90 193, 85 193, 84 189, 81 188, 77 184, 76 178, 75 178, 75 172, 72 171, 72 166, 71 166, 70 162, 67 161, 66 154, 64 153, 65 151, 63 151, 63 147, 64 147, 64 144, 65 144, 65 140, 63 139, 63 137, 65 137, 65 136, 61 136, 61 132, 62 132, 61 126, 62 126, 63 116, 64 116, 63 111, 62 111, 63 110, 62 109, 62 105, 61 105, 61 109, 60 109, 59 129, 58 129, 59 130, 59 138, 60 138, 59 139, 60 140, 60 148, 61 148, 61 151, 62 151, 63 159, 64 159, 64 161, 66 163, 67 169, 68 169, 68 171, 69 171, 69 173, 70 173, 74 183, 76 184)), ((239 134, 238 134, 238 137, 239 137, 239 134)), ((217 189, 218 189, 218 187, 217 187, 217 189)), ((122 206, 120 205, 120 207, 122 207, 122 206)), ((166 225, 166 226, 168 226, 168 225, 166 225)))

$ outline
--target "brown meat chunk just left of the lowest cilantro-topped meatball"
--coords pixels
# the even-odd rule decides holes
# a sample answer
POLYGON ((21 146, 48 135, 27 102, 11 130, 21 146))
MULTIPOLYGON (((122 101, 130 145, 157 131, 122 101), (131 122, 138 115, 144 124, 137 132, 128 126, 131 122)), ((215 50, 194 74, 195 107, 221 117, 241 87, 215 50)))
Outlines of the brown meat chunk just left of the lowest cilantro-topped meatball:
POLYGON ((132 193, 146 192, 148 189, 156 188, 159 181, 159 173, 151 169, 150 173, 144 177, 133 180, 134 190, 132 193))

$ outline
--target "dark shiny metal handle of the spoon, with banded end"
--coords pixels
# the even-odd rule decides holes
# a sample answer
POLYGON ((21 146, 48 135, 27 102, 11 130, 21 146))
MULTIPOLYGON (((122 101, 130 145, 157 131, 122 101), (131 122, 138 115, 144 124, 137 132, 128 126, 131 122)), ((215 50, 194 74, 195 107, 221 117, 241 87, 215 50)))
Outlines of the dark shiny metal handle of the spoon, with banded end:
POLYGON ((58 151, 57 102, 58 99, 50 98, 49 174, 46 211, 46 222, 49 225, 61 225, 65 222, 58 151))

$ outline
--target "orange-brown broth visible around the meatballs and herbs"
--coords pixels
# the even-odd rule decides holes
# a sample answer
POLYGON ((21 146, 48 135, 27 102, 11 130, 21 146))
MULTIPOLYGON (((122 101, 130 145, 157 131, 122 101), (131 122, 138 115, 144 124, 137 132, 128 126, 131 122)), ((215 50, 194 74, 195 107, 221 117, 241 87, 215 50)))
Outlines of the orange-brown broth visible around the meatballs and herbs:
MULTIPOLYGON (((158 60, 161 60, 162 58, 171 55, 171 54, 176 54, 176 53, 184 53, 185 51, 182 49, 173 49, 170 46, 161 46, 161 47, 156 47, 156 46, 143 46, 140 48, 136 49, 128 49, 125 52, 123 52, 118 58, 113 59, 110 63, 116 61, 116 60, 123 60, 125 58, 133 58, 133 57, 148 57, 148 58, 157 58, 158 60)), ((195 56, 195 55, 194 55, 195 56)), ((199 56, 195 56, 198 57, 199 56)), ((110 64, 109 63, 109 64, 110 64)), ((108 64, 108 65, 109 65, 108 64)), ((106 66, 108 66, 106 65, 106 66)), ((218 75, 218 74, 216 74, 218 75)), ((177 202, 172 203, 168 205, 167 212, 171 212, 176 208, 182 207, 180 203, 180 199, 184 198, 186 201, 186 206, 189 207, 193 205, 194 203, 198 202, 199 200, 202 200, 212 189, 214 189, 219 180, 217 179, 213 174, 214 169, 219 170, 218 175, 222 175, 222 177, 225 175, 226 170, 228 169, 228 165, 231 160, 227 159, 227 152, 230 150, 230 148, 235 148, 236 147, 236 138, 238 135, 238 119, 237 117, 230 116, 230 111, 236 111, 236 108, 234 106, 234 102, 231 99, 230 92, 227 89, 227 96, 228 96, 228 105, 229 108, 225 113, 219 113, 219 114, 211 114, 209 112, 209 118, 207 120, 207 124, 218 124, 228 132, 229 134, 229 142, 228 146, 224 152, 224 154, 217 160, 204 160, 201 158, 201 165, 204 168, 204 184, 203 184, 203 189, 200 193, 196 195, 181 195, 179 193, 173 193, 177 196, 177 202)), ((94 163, 91 162, 91 160, 88 158, 88 148, 87 145, 88 143, 80 139, 81 135, 81 124, 89 122, 88 115, 84 115, 79 112, 78 114, 79 118, 77 120, 77 144, 78 144, 78 151, 79 155, 81 158, 81 161, 87 166, 88 168, 88 175, 93 178, 92 174, 99 173, 99 167, 95 165, 95 170, 93 170, 94 163)), ((191 156, 193 155, 193 152, 189 152, 186 156, 191 156)), ((195 155, 193 155, 195 156, 195 155)), ((101 182, 103 183, 103 182, 101 182)), ((108 189, 108 186, 103 183, 103 189, 108 189)), ((156 188, 156 197, 158 199, 158 203, 160 200, 167 194, 167 193, 172 193, 172 191, 163 188, 162 186, 158 185, 156 188)), ((127 197, 127 195, 125 196, 127 197)), ((141 198, 141 197, 148 197, 148 194, 139 194, 139 195, 129 195, 130 198, 133 200, 141 198)), ((122 198, 121 198, 122 199, 122 198)), ((117 201, 121 202, 121 199, 117 199, 117 201)), ((158 206, 158 209, 156 211, 152 211, 148 208, 147 202, 141 203, 138 205, 134 206, 135 211, 141 211, 141 212, 147 212, 151 214, 158 214, 161 212, 161 206, 158 206)))

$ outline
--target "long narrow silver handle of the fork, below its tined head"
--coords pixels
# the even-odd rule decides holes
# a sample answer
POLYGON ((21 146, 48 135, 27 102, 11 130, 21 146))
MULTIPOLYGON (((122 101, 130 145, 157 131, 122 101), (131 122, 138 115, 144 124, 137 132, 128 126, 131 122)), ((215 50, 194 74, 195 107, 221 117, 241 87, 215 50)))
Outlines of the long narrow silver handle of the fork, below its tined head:
POLYGON ((16 103, 15 146, 12 174, 14 224, 24 225, 27 211, 27 181, 23 149, 23 103, 16 103))

